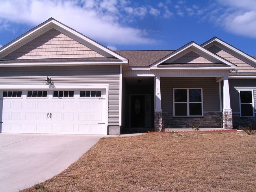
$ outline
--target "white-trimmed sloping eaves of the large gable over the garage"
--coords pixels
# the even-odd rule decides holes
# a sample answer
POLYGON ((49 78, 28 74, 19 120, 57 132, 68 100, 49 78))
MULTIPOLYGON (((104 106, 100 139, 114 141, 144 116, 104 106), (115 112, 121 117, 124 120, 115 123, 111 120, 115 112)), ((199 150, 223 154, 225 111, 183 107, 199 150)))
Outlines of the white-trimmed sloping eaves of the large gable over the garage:
POLYGON ((8 44, 0 48, 0 59, 4 58, 6 55, 24 46, 26 43, 32 41, 33 39, 39 37, 40 35, 46 33, 51 29, 56 29, 60 31, 61 33, 67 35, 75 41, 80 42, 81 44, 91 48, 91 50, 94 50, 103 57, 116 58, 119 59, 122 63, 128 62, 127 59, 122 57, 121 55, 113 52, 112 50, 106 48, 98 42, 93 41, 92 39, 86 37, 82 33, 79 33, 78 31, 69 28, 68 26, 62 24, 61 22, 55 20, 54 18, 46 20, 42 24, 39 24, 32 30, 24 33, 17 39, 9 42, 8 44))

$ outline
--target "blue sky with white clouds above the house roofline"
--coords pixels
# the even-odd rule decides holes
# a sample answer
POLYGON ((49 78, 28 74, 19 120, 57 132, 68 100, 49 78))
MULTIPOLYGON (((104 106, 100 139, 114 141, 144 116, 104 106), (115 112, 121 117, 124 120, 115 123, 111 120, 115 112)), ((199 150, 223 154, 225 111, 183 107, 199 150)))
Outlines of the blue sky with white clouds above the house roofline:
POLYGON ((216 36, 256 55, 256 0, 0 0, 0 46, 50 17, 112 50, 176 50, 216 36))

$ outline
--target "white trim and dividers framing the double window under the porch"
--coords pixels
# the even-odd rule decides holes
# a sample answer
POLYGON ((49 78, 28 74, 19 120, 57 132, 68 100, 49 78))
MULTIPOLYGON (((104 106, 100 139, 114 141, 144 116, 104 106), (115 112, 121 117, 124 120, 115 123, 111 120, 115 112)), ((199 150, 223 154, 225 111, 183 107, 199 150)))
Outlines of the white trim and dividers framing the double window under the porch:
POLYGON ((204 116, 204 111, 203 111, 203 89, 202 88, 173 88, 173 116, 174 117, 203 117, 204 116), (179 103, 179 102, 174 102, 174 90, 175 89, 186 89, 187 90, 187 116, 176 116, 175 115, 175 103, 179 103), (201 102, 189 102, 189 89, 200 89, 201 90, 201 102), (202 107, 202 115, 189 115, 189 103, 202 103, 201 107, 202 107))

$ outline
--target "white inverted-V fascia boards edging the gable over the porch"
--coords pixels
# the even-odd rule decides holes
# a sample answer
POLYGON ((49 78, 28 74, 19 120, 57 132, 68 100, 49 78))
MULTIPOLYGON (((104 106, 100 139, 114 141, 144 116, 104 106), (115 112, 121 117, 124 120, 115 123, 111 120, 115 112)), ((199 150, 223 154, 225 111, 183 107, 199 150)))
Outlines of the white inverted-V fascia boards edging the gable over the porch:
POLYGON ((210 55, 211 57, 215 58, 218 61, 221 61, 222 63, 228 65, 228 66, 235 66, 233 63, 230 63, 229 61, 227 61, 226 59, 223 59, 222 57, 213 54, 212 52, 210 52, 209 50, 207 50, 206 48, 203 48, 202 46, 196 44, 195 42, 190 42, 189 44, 187 44, 185 47, 182 47, 176 51, 174 51, 173 53, 171 53, 170 55, 167 55, 166 57, 164 57, 163 59, 161 59, 160 61, 154 63, 150 68, 154 67, 154 66, 158 66, 161 63, 164 63, 165 61, 167 61, 168 59, 180 54, 181 52, 183 52, 184 50, 187 50, 190 47, 195 47, 198 50, 200 50, 201 52, 204 52, 207 55, 210 55))

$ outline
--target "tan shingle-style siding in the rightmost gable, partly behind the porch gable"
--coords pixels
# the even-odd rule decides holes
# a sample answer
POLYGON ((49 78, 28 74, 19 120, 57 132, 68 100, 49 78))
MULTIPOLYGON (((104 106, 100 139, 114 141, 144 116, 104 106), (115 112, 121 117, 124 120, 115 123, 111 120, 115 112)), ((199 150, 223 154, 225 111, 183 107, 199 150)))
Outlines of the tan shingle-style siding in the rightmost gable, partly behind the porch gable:
MULTIPOLYGON (((245 61, 242 61, 241 59, 235 57, 234 55, 229 54, 228 52, 224 51, 216 45, 211 46, 210 48, 208 48, 208 50, 223 57, 231 63, 234 63, 236 65, 237 72, 256 72, 256 68, 249 65, 245 61)), ((233 72, 235 73, 236 71, 233 72)))

